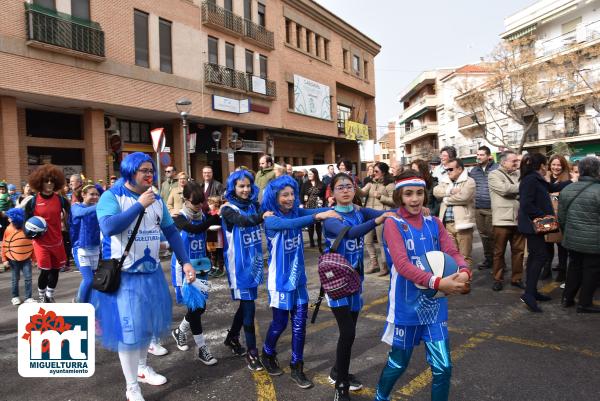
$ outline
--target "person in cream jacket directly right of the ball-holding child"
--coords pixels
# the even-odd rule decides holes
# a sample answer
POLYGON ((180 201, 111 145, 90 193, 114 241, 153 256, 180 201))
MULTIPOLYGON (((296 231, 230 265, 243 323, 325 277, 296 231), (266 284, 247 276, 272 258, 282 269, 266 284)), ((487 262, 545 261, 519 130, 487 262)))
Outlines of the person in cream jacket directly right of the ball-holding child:
POLYGON ((442 201, 440 220, 454 239, 469 267, 473 264, 473 227, 475 227, 475 180, 469 177, 461 159, 446 163, 446 173, 433 188, 433 195, 442 201))

